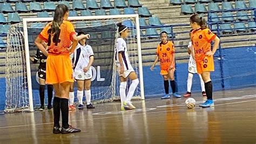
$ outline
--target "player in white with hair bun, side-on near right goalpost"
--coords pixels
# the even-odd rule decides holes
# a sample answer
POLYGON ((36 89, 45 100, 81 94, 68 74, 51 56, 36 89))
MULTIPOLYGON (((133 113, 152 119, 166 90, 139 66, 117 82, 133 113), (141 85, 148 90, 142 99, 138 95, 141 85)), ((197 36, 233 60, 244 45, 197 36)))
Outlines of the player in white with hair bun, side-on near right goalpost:
POLYGON ((120 37, 116 40, 116 48, 114 53, 120 77, 119 93, 121 99, 121 110, 131 110, 136 109, 136 107, 132 105, 131 99, 134 94, 134 91, 137 88, 137 85, 139 84, 139 80, 129 61, 127 46, 124 40, 129 35, 129 29, 120 23, 117 24, 117 26, 117 31, 120 37), (132 80, 132 84, 130 85, 129 92, 126 96, 125 89, 128 77, 132 80))

